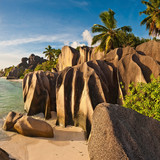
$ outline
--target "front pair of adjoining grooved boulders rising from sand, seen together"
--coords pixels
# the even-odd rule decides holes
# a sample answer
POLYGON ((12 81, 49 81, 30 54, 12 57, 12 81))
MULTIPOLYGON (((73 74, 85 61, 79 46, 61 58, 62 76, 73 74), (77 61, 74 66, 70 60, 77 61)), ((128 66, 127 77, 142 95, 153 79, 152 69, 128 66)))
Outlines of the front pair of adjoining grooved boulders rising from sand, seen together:
POLYGON ((43 112, 46 118, 57 111, 57 124, 81 126, 89 133, 95 106, 116 103, 114 77, 105 61, 86 62, 59 73, 29 73, 23 80, 24 108, 28 115, 43 112))

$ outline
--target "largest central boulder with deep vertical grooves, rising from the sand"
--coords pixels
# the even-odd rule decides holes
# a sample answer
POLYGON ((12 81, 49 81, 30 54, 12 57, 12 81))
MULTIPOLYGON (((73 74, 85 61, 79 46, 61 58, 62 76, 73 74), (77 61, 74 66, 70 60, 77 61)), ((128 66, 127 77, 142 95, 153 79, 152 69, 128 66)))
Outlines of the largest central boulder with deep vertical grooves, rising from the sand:
POLYGON ((66 68, 57 78, 57 123, 81 126, 89 133, 94 108, 101 102, 114 103, 114 91, 112 67, 104 61, 66 68))

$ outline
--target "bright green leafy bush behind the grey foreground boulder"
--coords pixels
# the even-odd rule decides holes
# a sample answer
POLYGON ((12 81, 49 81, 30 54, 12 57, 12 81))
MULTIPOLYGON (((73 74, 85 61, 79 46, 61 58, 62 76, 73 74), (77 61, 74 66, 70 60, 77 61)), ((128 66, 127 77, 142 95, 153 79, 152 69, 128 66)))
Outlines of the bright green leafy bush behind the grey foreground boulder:
POLYGON ((160 77, 151 79, 147 84, 131 83, 123 106, 160 121, 160 77))

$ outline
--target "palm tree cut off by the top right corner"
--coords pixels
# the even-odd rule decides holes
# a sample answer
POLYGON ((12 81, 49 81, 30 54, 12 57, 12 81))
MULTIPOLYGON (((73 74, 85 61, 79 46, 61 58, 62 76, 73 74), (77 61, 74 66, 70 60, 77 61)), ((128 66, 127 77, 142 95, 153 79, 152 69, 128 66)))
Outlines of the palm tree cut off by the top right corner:
POLYGON ((141 22, 141 25, 146 24, 146 29, 149 29, 149 35, 156 37, 160 34, 160 0, 142 1, 147 6, 146 10, 140 12, 147 15, 141 22))

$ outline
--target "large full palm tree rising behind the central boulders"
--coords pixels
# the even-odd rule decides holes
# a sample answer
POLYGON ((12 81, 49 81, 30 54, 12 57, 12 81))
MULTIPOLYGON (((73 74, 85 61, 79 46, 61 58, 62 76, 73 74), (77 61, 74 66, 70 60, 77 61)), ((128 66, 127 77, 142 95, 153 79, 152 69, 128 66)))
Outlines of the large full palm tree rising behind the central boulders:
POLYGON ((100 24, 94 24, 92 27, 93 33, 100 33, 94 36, 92 39, 92 45, 100 42, 97 50, 106 51, 107 53, 111 49, 120 47, 121 43, 118 36, 119 31, 123 31, 125 33, 132 31, 130 26, 117 28, 117 21, 114 18, 114 15, 115 13, 111 9, 109 9, 109 11, 102 12, 99 17, 104 26, 100 24))

